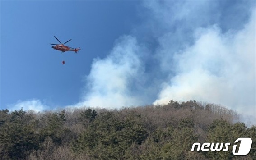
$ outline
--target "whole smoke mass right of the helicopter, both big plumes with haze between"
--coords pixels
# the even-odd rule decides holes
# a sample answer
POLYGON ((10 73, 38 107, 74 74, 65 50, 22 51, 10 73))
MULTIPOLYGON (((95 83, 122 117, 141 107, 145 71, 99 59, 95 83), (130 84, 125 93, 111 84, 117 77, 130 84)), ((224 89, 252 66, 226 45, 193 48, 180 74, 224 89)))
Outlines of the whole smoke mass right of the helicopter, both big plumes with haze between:
POLYGON ((256 9, 242 14, 250 4, 221 5, 227 2, 145 2, 144 22, 94 59, 78 105, 195 99, 255 112, 256 9))

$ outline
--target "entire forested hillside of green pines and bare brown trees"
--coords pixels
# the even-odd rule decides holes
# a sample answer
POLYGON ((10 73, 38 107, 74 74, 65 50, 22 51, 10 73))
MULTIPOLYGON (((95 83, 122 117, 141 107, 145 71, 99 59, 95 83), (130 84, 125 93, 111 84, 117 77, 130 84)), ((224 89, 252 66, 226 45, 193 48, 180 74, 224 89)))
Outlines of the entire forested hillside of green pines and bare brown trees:
POLYGON ((1 110, 0 159, 256 160, 256 126, 239 122, 233 110, 196 101, 120 110, 1 110), (239 137, 253 141, 247 156, 232 153, 239 137), (228 151, 191 151, 195 142, 231 145, 228 151))

